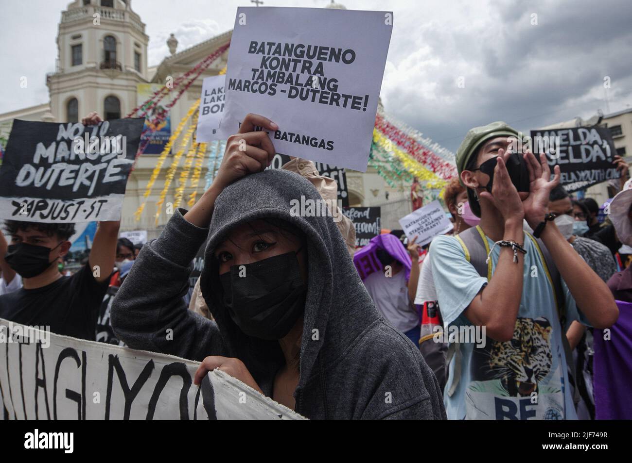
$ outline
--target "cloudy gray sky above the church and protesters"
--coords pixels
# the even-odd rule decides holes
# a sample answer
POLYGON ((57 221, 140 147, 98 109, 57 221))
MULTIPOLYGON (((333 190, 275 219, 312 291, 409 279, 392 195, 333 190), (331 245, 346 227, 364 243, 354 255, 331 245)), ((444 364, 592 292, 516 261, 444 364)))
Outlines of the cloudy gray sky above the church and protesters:
MULTIPOLYGON (((329 0, 265 0, 322 7, 329 0)), ((382 83, 388 112, 456 151, 492 120, 528 129, 632 107, 630 0, 343 0, 394 12, 382 83), (537 22, 537 24, 534 24, 537 22), (604 78, 611 87, 604 89, 604 78), (465 86, 459 86, 459 78, 465 86)), ((47 102, 55 38, 68 0, 0 0, 0 112, 47 102), (27 76, 28 87, 20 88, 27 76)), ((149 63, 232 28, 249 0, 133 0, 149 63)))

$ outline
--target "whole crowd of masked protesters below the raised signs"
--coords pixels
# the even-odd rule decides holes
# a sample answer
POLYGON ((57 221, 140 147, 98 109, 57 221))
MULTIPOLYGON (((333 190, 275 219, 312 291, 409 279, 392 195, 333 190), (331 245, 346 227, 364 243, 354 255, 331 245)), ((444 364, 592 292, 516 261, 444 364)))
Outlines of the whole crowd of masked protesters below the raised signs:
POLYGON ((336 182, 298 158, 267 170, 274 146, 255 127, 278 129, 247 115, 209 189, 157 239, 140 247, 100 222, 71 275, 73 225, 5 221, 0 317, 197 360, 196 384, 219 368, 307 418, 632 418, 619 384, 632 377, 630 181, 600 220, 493 122, 456 153, 452 231, 356 249, 339 211, 290 213, 301 197, 335 204, 336 182))

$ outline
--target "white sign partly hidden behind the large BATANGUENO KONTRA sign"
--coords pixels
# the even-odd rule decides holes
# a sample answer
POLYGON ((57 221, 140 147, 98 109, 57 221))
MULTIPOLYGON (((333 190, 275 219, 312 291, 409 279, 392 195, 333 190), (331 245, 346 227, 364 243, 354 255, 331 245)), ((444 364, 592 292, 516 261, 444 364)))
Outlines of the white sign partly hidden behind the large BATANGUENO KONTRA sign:
POLYGON ((198 117, 196 141, 208 143, 219 140, 217 129, 224 114, 224 81, 226 76, 204 78, 200 95, 200 115, 198 117))

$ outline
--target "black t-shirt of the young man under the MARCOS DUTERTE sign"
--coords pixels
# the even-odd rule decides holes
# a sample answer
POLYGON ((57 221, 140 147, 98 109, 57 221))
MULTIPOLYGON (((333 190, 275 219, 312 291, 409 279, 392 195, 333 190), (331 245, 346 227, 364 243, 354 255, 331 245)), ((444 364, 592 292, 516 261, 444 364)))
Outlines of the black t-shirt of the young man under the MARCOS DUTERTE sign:
POLYGON ((0 318, 23 325, 49 325, 54 334, 94 341, 107 283, 96 281, 86 264, 72 276, 42 288, 20 288, 0 296, 0 318))

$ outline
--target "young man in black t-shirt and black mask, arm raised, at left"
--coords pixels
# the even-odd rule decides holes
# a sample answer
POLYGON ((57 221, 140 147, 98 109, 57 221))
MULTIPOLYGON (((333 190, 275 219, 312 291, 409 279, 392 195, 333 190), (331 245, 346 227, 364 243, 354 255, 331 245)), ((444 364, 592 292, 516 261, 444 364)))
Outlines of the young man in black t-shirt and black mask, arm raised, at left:
POLYGON ((0 318, 23 325, 49 325, 51 332, 95 339, 99 306, 114 267, 119 221, 100 222, 88 262, 62 276, 58 259, 68 254, 71 223, 8 220, 11 234, 5 260, 20 274, 23 288, 0 296, 0 318))

